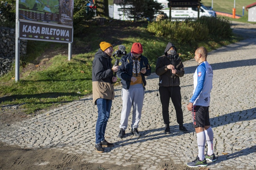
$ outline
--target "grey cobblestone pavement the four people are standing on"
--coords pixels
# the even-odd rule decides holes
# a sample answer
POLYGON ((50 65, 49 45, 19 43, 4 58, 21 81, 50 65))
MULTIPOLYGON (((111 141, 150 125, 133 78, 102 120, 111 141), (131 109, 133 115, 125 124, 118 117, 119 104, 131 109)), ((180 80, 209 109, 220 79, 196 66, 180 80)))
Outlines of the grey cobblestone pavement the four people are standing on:
MULTIPOLYGON (((219 48, 209 53, 207 61, 214 71, 210 121, 214 132, 215 163, 210 169, 256 169, 256 37, 219 48), (254 160, 254 161, 253 161, 254 160)), ((97 107, 92 96, 47 111, 29 120, 0 129, 0 141, 25 148, 55 148, 68 153, 84 153, 84 160, 117 165, 142 164, 142 169, 157 169, 160 163, 172 161, 184 165, 197 156, 197 138, 192 116, 186 105, 192 96, 194 59, 184 62, 181 79, 184 126, 190 133, 179 131, 175 110, 170 103, 171 134, 163 133, 158 76, 147 77, 142 117, 138 130, 142 137, 130 134, 117 138, 122 109, 121 86, 115 87, 106 140, 115 143, 105 153, 94 151, 97 107)), ((131 116, 129 125, 131 124, 131 116)))

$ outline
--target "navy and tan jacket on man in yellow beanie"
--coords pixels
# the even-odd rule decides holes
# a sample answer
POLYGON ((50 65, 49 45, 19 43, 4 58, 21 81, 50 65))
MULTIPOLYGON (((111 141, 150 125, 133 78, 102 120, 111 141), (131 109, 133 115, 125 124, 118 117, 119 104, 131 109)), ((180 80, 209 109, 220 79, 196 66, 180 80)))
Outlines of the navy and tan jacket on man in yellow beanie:
POLYGON ((114 86, 112 77, 111 57, 104 53, 100 48, 95 53, 93 59, 92 82, 93 82, 93 103, 99 98, 114 99, 114 86))

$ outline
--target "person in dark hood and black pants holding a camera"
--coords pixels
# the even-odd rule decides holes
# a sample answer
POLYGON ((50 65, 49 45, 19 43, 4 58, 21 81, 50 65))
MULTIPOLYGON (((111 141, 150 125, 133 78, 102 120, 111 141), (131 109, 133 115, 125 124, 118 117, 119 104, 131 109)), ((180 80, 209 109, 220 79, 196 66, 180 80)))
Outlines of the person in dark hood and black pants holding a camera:
POLYGON ((172 99, 176 111, 179 130, 188 132, 183 126, 183 112, 181 108, 181 88, 180 78, 184 76, 184 66, 179 58, 177 48, 169 42, 164 50, 164 55, 158 57, 156 64, 156 74, 159 76, 159 93, 162 104, 163 121, 165 124, 165 134, 170 134, 169 126, 169 102, 172 99))

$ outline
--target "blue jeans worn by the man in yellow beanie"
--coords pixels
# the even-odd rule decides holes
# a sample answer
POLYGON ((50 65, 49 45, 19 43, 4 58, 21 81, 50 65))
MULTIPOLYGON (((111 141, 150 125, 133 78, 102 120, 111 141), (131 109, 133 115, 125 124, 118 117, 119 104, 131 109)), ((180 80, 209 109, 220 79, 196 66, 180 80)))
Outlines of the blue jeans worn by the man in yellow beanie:
POLYGON ((97 99, 98 119, 96 122, 96 144, 101 143, 105 139, 105 130, 108 118, 110 116, 112 100, 97 99))

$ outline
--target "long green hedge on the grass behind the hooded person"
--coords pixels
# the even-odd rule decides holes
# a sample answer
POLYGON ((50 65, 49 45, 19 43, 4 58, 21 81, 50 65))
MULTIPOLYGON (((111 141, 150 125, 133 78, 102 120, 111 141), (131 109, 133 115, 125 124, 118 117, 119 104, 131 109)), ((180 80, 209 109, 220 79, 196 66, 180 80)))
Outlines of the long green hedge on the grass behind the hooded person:
POLYGON ((212 36, 229 38, 232 33, 230 23, 230 20, 214 17, 201 17, 197 20, 187 19, 184 21, 166 19, 149 23, 147 29, 157 37, 166 37, 178 43, 191 44, 198 40, 207 40, 212 36))

